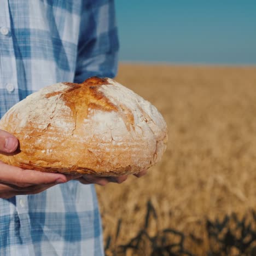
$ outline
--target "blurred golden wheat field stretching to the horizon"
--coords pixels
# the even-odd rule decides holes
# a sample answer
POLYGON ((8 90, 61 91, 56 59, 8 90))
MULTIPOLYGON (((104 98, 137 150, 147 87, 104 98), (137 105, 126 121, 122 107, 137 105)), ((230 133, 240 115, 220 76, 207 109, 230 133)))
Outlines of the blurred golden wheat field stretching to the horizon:
MULTIPOLYGON (((160 110, 169 140, 146 176, 97 187, 106 254, 143 228, 150 200, 150 235, 177 230, 189 252, 207 255, 207 219, 256 210, 256 67, 123 63, 115 80, 160 110)), ((137 254, 150 253, 145 243, 137 254)))

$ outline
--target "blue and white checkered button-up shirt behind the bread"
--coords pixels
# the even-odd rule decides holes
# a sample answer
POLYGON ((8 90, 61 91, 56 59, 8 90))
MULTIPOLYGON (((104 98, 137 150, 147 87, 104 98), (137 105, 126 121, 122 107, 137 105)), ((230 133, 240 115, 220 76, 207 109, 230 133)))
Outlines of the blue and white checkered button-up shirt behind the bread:
MULTIPOLYGON (((46 85, 114 77, 117 51, 111 0, 0 0, 0 117, 46 85)), ((0 199, 1 256, 102 254, 94 185, 0 199)))

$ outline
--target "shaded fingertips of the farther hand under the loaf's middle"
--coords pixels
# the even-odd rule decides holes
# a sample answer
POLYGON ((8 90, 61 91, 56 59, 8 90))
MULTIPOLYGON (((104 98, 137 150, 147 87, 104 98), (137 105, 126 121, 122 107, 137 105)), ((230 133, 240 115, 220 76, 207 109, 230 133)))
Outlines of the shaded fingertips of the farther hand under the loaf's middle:
MULTIPOLYGON (((147 173, 147 170, 143 170, 139 173, 134 174, 137 178, 140 178, 144 176, 147 173)), ((127 179, 127 175, 118 176, 118 177, 97 177, 94 175, 83 175, 83 177, 78 178, 78 181, 80 181, 83 184, 97 184, 97 185, 107 185, 109 182, 114 182, 121 184, 127 179)))

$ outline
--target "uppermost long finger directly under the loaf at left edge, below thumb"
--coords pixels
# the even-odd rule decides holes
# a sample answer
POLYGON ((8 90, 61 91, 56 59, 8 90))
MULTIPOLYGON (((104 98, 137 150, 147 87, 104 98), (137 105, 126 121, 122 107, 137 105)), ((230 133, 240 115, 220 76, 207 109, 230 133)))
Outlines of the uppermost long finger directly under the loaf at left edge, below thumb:
POLYGON ((24 170, 0 162, 0 181, 19 187, 27 187, 33 184, 65 183, 68 178, 61 173, 24 170))

